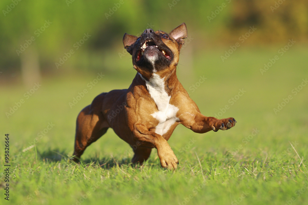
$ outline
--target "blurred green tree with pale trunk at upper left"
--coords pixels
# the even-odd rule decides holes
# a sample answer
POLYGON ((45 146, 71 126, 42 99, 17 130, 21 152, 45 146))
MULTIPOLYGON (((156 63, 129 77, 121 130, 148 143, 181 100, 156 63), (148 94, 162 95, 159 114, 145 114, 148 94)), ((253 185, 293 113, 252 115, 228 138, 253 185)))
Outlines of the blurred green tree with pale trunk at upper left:
POLYGON ((98 0, 91 4, 73 0, 1 1, 4 17, 0 18, 0 37, 5 39, 1 53, 9 53, 13 61, 20 58, 24 83, 33 85, 40 78, 40 57, 47 61, 55 60, 55 55, 63 57, 84 34, 93 34, 101 17, 97 8, 103 4, 98 0))

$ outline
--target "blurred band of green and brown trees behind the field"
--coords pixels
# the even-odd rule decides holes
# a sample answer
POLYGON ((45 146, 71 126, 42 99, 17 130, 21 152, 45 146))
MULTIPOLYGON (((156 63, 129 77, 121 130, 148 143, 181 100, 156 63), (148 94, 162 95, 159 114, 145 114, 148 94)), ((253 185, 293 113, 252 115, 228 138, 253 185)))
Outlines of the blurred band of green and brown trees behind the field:
POLYGON ((189 46, 181 58, 190 61, 196 53, 229 49, 236 42, 241 50, 264 49, 292 38, 301 45, 308 37, 306 0, 3 0, 0 5, 0 69, 6 76, 1 82, 22 79, 25 85, 65 72, 119 75, 120 63, 129 58, 124 33, 138 35, 146 28, 170 32, 185 22, 189 46), (255 31, 245 37, 250 27, 255 31))

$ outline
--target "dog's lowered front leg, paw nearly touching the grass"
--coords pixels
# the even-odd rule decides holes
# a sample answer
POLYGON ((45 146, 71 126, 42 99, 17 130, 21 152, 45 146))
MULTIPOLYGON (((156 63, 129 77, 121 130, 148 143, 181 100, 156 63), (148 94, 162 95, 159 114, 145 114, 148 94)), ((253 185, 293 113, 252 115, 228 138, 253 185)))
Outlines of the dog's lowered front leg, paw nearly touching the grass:
POLYGON ((134 136, 137 141, 152 144, 157 149, 160 159, 160 165, 164 168, 176 169, 179 160, 173 153, 170 145, 163 136, 149 131, 144 125, 136 124, 134 126, 134 136))

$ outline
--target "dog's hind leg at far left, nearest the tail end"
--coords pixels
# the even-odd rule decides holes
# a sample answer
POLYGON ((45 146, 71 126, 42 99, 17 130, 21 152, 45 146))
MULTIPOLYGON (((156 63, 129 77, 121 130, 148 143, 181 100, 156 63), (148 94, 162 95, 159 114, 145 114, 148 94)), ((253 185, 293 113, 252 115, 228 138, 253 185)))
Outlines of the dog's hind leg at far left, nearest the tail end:
POLYGON ((93 103, 83 108, 79 113, 76 122, 73 160, 79 162, 80 156, 83 154, 87 146, 98 140, 107 132, 108 128, 109 124, 107 123, 107 120, 104 119, 101 112, 95 111, 93 103))

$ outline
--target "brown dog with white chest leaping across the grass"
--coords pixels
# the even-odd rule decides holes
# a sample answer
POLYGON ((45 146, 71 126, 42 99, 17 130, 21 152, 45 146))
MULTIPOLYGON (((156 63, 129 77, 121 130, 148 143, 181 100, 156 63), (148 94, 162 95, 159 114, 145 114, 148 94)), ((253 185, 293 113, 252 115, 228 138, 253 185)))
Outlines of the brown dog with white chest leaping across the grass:
POLYGON ((169 34, 144 30, 141 36, 124 34, 123 44, 132 55, 137 74, 128 89, 112 90, 94 98, 77 117, 74 160, 78 161, 92 142, 112 128, 130 144, 132 163, 142 164, 157 149, 160 165, 175 169, 178 159, 167 140, 178 124, 193 132, 227 130, 234 118, 202 115, 176 77, 176 65, 184 38, 185 23, 169 34))

